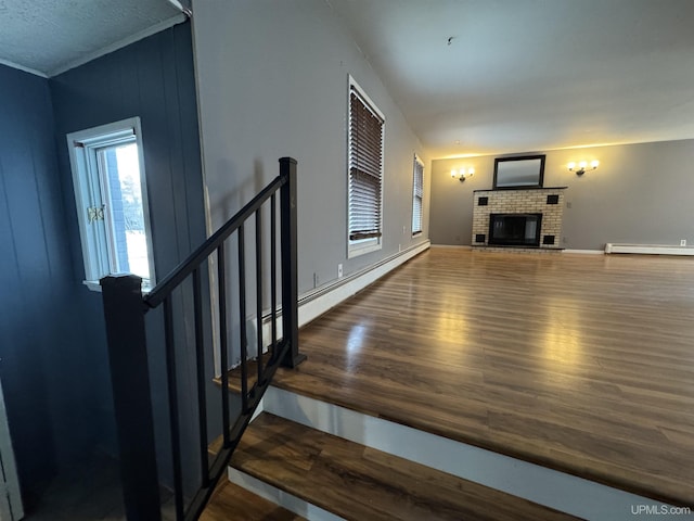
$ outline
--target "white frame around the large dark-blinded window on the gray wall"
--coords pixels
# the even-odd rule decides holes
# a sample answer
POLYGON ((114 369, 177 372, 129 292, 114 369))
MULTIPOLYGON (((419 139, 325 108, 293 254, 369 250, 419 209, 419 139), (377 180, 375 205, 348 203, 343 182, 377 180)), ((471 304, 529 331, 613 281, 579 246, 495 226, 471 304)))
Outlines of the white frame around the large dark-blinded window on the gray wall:
POLYGON ((351 75, 348 75, 347 86, 347 258, 357 257, 370 252, 381 250, 383 247, 383 229, 384 229, 384 215, 383 215, 383 200, 384 200, 384 185, 385 185, 385 130, 386 117, 371 100, 371 98, 364 92, 351 75), (378 212, 378 236, 363 239, 351 239, 350 231, 350 201, 351 201, 351 158, 352 158, 352 134, 351 134, 351 94, 356 93, 359 101, 371 112, 374 116, 381 119, 381 165, 380 165, 380 205, 378 212))

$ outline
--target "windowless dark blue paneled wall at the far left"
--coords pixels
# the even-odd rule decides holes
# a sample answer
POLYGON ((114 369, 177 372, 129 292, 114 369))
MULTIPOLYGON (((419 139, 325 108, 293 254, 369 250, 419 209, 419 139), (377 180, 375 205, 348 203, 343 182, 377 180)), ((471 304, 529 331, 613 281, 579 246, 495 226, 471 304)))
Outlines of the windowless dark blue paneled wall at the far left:
POLYGON ((0 380, 30 505, 97 439, 98 360, 82 330, 49 82, 0 65, 0 380))

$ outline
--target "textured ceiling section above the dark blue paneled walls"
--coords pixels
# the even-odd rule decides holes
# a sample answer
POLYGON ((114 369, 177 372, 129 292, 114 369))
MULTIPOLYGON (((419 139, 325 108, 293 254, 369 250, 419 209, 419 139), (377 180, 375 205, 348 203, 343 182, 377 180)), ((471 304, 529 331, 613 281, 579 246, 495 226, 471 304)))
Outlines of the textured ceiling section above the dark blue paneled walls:
POLYGON ((182 16, 167 0, 0 0, 0 63, 53 76, 182 16))

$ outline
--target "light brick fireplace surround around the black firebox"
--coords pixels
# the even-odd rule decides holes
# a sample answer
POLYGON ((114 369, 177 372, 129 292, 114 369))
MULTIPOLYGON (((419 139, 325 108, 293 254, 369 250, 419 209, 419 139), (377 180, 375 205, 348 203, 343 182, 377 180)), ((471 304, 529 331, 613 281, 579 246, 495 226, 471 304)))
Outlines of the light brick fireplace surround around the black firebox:
MULTIPOLYGON (((562 250, 562 219, 566 187, 520 190, 475 190, 473 211, 473 246, 513 247, 489 245, 491 214, 542 214, 540 245, 534 251, 562 250)), ((524 246, 523 250, 528 250, 524 246)))

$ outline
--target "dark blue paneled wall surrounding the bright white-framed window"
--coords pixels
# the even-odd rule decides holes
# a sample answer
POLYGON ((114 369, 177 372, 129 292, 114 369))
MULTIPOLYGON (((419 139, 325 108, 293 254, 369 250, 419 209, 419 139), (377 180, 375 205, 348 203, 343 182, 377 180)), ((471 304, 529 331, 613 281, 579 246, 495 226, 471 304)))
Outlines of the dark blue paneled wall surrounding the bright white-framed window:
MULTIPOLYGON (((141 119, 155 271, 158 279, 163 278, 206 237, 190 23, 177 25, 53 77, 50 86, 66 221, 70 230, 69 246, 76 259, 75 280, 81 280, 83 269, 65 136, 133 116, 141 119)), ((90 330, 91 338, 98 339, 93 348, 99 352, 100 363, 94 370, 98 379, 110 385, 101 295, 83 289, 81 297, 91 302, 91 308, 85 315, 85 328, 90 330)), ((178 306, 182 309, 188 304, 179 302, 178 306)), ((152 322, 147 323, 149 327, 157 326, 157 318, 160 318, 157 313, 147 317, 147 322, 152 322)), ((181 329, 185 328, 189 330, 181 334, 190 338, 190 325, 181 326, 181 329)), ((163 425, 168 419, 166 394, 163 392, 163 347, 158 340, 153 332, 150 338, 150 352, 154 357, 151 359, 151 377, 157 425, 163 425)), ((182 348, 183 342, 179 344, 182 348)), ((192 410, 194 406, 187 398, 192 396, 194 384, 187 374, 179 378, 181 384, 191 391, 182 393, 183 406, 192 410)), ((111 401, 104 402, 103 407, 104 415, 112 415, 111 401)), ((190 428, 184 425, 184 430, 190 428)), ((157 432, 157 440, 159 449, 164 448, 159 458, 163 461, 168 442, 163 430, 157 432)), ((165 479, 168 468, 165 463, 160 467, 165 479)))

